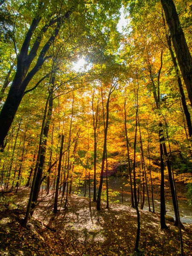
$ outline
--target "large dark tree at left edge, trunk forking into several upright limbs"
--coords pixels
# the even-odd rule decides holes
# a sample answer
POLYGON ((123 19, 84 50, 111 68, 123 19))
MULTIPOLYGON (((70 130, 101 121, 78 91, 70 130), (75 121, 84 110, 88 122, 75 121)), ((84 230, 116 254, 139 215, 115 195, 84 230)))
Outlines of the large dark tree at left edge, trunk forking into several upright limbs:
POLYGON ((75 6, 71 6, 67 11, 64 11, 62 4, 60 4, 59 1, 57 2, 57 5, 53 6, 53 4, 53 2, 51 5, 48 5, 47 3, 44 4, 41 0, 38 2, 35 6, 34 17, 26 33, 19 54, 17 54, 16 51, 17 70, 0 113, 0 146, 3 146, 3 141, 12 125, 27 85, 38 70, 41 69, 44 62, 50 58, 50 56, 46 56, 47 51, 57 37, 61 25, 64 24, 75 9, 75 6), (49 9, 49 12, 51 10, 51 13, 49 13, 49 15, 47 14, 46 18, 43 19, 42 17, 47 12, 47 9, 49 9), (39 27, 41 27, 40 30, 39 27), (50 34, 48 35, 47 42, 44 43, 42 42, 43 37, 48 29, 51 31, 49 32, 50 34), (34 35, 37 33, 38 36, 34 38, 34 35), (43 43, 43 47, 41 47, 39 52, 41 42, 43 43), (37 55, 38 59, 36 60, 37 55), (33 63, 33 67, 29 71, 33 60, 35 60, 35 64, 33 63))

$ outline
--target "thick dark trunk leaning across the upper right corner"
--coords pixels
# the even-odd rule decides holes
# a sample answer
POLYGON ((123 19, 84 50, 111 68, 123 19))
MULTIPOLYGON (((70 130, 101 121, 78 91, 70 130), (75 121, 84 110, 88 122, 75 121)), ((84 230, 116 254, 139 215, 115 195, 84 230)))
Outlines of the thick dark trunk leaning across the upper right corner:
POLYGON ((173 0, 161 0, 178 64, 192 105, 192 57, 173 0))

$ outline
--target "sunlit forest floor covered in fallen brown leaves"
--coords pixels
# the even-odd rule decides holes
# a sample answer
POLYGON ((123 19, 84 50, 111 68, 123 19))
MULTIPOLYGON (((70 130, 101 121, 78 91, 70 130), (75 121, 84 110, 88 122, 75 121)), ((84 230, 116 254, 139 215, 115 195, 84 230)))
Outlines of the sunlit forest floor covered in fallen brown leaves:
MULTIPOLYGON (((43 197, 46 194, 43 193, 43 197)), ((29 189, 0 196, 0 255, 5 256, 169 256, 179 255, 180 237, 173 222, 160 230, 158 213, 140 210, 140 254, 134 252, 137 232, 136 210, 121 204, 96 203, 77 195, 69 196, 66 210, 53 214, 49 195, 35 209, 27 228, 24 217, 29 189)), ((62 203, 62 206, 64 202, 62 203)), ((182 230, 185 255, 192 255, 192 225, 182 230)))

